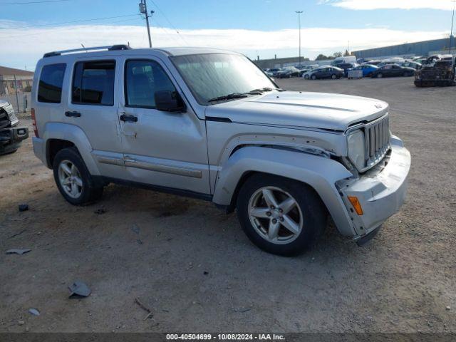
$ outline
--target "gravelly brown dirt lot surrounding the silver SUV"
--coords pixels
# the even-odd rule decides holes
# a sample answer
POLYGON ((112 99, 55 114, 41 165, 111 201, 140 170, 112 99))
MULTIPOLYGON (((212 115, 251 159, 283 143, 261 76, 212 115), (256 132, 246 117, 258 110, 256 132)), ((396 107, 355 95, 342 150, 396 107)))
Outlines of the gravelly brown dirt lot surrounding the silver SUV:
POLYGON ((406 204, 370 244, 330 227, 313 251, 276 257, 210 203, 118 185, 72 207, 29 139, 0 157, 0 331, 456 332, 456 88, 418 89, 410 78, 280 84, 390 103, 413 166, 406 204), (21 203, 30 210, 19 213, 21 203), (19 247, 32 251, 4 254, 19 247), (68 299, 76 279, 88 298, 68 299))

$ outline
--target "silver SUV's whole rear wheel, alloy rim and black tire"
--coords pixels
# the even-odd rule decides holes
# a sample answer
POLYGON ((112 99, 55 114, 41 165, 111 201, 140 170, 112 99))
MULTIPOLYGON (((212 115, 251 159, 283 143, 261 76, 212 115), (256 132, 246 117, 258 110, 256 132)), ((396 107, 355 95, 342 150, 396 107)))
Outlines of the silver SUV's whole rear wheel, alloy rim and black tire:
POLYGON ((58 190, 67 202, 88 204, 100 198, 103 186, 96 185, 78 150, 60 150, 53 160, 53 174, 58 190))

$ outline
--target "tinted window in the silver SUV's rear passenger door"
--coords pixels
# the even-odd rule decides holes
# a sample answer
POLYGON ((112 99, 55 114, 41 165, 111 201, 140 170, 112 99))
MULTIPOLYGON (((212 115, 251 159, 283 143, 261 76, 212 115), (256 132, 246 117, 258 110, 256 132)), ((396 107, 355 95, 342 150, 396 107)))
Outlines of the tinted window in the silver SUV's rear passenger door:
POLYGON ((71 102, 114 105, 115 61, 78 62, 74 68, 71 102))

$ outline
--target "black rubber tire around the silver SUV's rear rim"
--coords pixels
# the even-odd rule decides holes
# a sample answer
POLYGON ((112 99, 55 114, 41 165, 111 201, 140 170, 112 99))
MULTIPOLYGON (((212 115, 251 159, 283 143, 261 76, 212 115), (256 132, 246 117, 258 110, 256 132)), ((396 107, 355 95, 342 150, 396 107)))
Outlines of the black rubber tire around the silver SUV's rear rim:
POLYGON ((99 199, 101 195, 103 195, 103 185, 98 185, 95 183, 92 175, 90 175, 90 172, 87 170, 86 163, 83 161, 83 158, 79 154, 76 147, 63 148, 57 152, 57 155, 53 160, 53 174, 54 180, 56 181, 56 185, 61 195, 66 199, 67 202, 73 205, 89 204, 91 202, 95 202, 95 200, 99 199), (81 195, 77 198, 70 197, 65 192, 65 190, 63 190, 61 182, 59 181, 58 167, 63 160, 68 160, 73 163, 81 175, 83 186, 81 195))

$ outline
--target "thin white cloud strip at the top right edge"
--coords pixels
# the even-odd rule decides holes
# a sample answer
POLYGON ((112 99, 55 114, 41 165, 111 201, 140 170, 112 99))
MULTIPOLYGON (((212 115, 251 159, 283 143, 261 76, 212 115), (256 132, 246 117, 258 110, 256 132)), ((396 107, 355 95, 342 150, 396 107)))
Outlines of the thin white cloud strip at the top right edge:
POLYGON ((440 9, 452 11, 451 0, 322 0, 319 4, 328 4, 343 9, 440 9))

